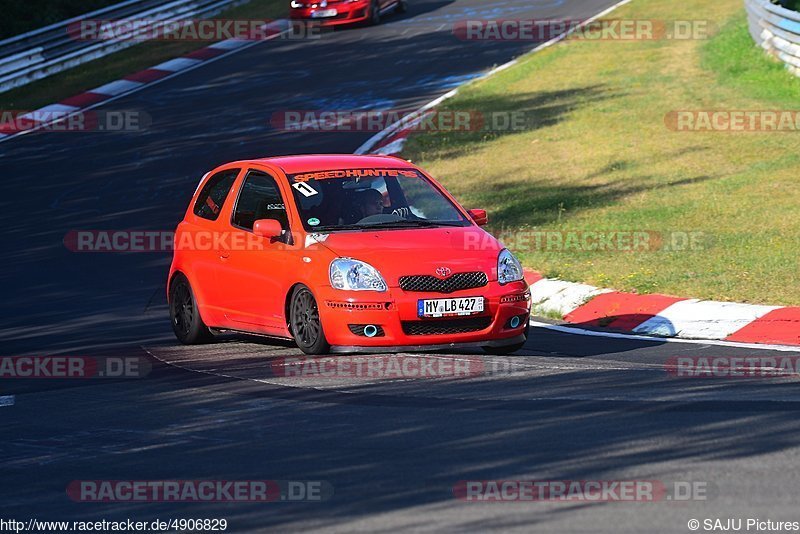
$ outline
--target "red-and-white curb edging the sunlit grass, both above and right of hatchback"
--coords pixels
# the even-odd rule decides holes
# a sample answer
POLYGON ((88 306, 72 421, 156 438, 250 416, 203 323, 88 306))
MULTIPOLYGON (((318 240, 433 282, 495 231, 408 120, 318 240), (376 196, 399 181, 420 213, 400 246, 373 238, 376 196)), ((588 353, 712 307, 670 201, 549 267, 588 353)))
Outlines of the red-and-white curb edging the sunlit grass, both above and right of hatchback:
MULTIPOLYGON (((630 1, 619 2, 584 24, 590 24, 630 1)), ((561 34, 531 52, 550 47, 568 35, 561 34)), ((467 83, 488 78, 517 61, 510 61, 467 83)), ((355 153, 400 154, 414 132, 414 126, 433 113, 439 104, 457 95, 458 90, 453 89, 422 106, 414 112, 413 120, 404 118, 372 136, 355 153)), ((568 323, 562 326, 542 323, 549 328, 612 337, 626 333, 742 344, 800 345, 800 308, 797 307, 623 293, 587 284, 550 280, 532 271, 526 271, 526 279, 531 285, 534 315, 557 315, 568 323)))

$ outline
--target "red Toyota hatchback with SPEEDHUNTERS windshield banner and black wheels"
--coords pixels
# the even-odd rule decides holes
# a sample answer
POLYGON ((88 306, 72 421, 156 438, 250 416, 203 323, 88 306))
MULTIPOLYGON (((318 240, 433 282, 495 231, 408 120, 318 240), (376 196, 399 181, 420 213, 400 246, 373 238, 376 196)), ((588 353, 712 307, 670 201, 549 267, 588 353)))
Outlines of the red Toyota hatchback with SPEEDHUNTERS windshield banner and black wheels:
POLYGON ((307 354, 521 348, 517 259, 433 178, 390 156, 238 161, 203 177, 167 284, 186 344, 293 338, 307 354))

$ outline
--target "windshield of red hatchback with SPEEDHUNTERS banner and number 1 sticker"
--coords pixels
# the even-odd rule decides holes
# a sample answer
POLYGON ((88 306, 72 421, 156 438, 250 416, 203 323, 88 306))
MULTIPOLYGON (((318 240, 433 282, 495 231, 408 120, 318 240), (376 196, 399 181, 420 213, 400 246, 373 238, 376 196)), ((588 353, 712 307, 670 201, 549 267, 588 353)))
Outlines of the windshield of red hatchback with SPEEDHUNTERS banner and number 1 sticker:
POLYGON ((453 203, 411 169, 348 169, 289 176, 307 231, 469 226, 453 203))

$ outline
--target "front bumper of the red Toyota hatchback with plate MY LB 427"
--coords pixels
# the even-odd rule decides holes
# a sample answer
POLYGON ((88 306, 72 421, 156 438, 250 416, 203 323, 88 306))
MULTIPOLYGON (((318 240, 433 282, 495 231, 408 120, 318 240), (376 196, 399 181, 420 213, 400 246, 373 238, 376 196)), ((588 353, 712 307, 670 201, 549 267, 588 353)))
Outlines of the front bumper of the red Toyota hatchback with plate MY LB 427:
POLYGON ((490 282, 481 288, 449 294, 403 291, 398 287, 384 293, 352 292, 329 286, 319 288, 317 293, 328 343, 334 350, 347 352, 359 347, 422 350, 511 345, 521 341, 520 336, 524 338, 531 311, 530 291, 525 281, 503 286, 490 282), (484 311, 476 315, 437 319, 417 316, 420 299, 481 296, 484 311), (360 328, 364 325, 376 327, 378 334, 365 336, 360 328))

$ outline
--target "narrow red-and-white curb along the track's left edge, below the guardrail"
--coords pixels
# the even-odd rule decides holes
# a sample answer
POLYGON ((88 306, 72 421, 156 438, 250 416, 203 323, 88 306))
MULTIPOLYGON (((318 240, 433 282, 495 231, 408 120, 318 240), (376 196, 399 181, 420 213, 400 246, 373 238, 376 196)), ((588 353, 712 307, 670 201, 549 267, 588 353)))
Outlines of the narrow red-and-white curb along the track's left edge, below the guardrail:
POLYGON ((184 74, 197 67, 222 59, 223 57, 246 48, 250 48, 261 42, 275 39, 289 31, 289 21, 285 19, 276 20, 265 24, 262 30, 270 32, 264 39, 227 39, 225 41, 219 41, 205 48, 189 52, 182 57, 170 59, 169 61, 159 63, 149 69, 144 69, 125 76, 120 80, 115 80, 81 94, 66 98, 57 104, 50 104, 35 111, 25 113, 21 115, 21 118, 32 123, 32 126, 14 133, 0 133, 0 142, 62 122, 77 113, 93 109, 101 104, 107 104, 112 100, 122 98, 123 96, 135 93, 145 87, 174 78, 175 76, 184 74))

